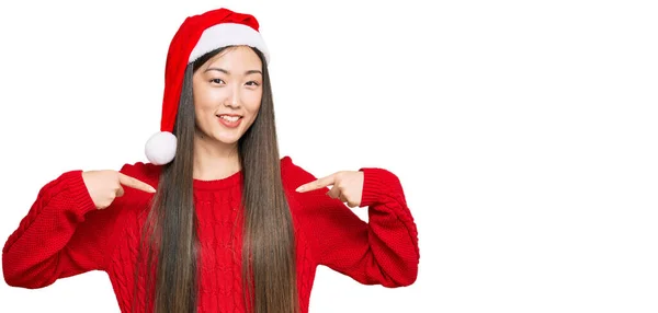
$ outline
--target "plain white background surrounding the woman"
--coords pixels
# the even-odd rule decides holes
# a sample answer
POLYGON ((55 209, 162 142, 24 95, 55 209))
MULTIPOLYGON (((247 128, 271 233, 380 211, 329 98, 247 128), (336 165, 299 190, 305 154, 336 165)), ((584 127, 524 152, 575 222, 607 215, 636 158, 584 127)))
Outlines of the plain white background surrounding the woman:
MULTIPOLYGON (((282 154, 390 170, 420 232, 415 285, 321 267, 310 312, 658 312, 653 1, 145 2, 0 4, 2 241, 61 172, 145 161, 171 37, 227 7, 272 51, 282 154)), ((88 273, 0 311, 118 306, 88 273)))

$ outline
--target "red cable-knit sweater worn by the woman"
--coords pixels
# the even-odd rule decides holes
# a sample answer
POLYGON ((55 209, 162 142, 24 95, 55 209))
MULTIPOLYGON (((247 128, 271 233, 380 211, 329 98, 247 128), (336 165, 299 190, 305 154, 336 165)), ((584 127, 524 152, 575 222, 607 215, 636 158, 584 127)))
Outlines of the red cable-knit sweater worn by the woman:
MULTIPOLYGON (((121 172, 158 184, 160 167, 126 164, 121 172)), ((297 280, 303 312, 308 303, 316 267, 325 265, 365 283, 408 286, 419 262, 417 229, 399 179, 383 169, 364 173, 361 207, 368 222, 325 194, 329 188, 296 193, 315 176, 281 159, 282 179, 293 215, 297 241, 297 280)), ((241 196, 242 172, 217 181, 194 181, 200 227, 201 287, 198 312, 243 312, 240 279, 240 231, 231 232, 241 196)), ((144 210, 152 194, 125 188, 106 209, 97 210, 81 171, 70 171, 46 184, 2 250, 4 280, 10 286, 42 288, 59 278, 89 270, 107 273, 118 306, 128 312, 134 264, 144 210)), ((238 225, 239 227, 239 225, 238 225)), ((238 228, 239 229, 239 228, 238 228)), ((141 304, 144 305, 144 304, 141 304)), ((144 308, 140 308, 144 312, 144 308)))

